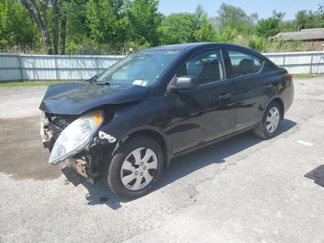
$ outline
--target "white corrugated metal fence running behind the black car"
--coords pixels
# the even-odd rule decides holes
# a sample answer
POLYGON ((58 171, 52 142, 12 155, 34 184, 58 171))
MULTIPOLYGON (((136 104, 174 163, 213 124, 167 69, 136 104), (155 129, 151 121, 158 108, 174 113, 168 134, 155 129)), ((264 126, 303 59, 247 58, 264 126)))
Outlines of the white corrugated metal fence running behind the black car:
MULTIPOLYGON (((324 52, 264 53, 291 74, 324 73, 324 52)), ((0 82, 10 80, 84 80, 124 56, 54 56, 0 53, 0 82), (23 74, 23 76, 22 76, 23 74)))

